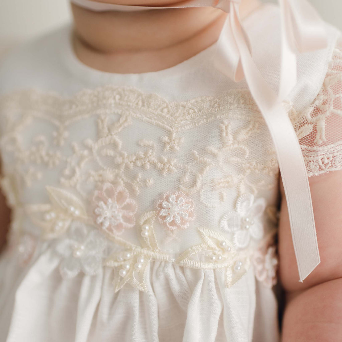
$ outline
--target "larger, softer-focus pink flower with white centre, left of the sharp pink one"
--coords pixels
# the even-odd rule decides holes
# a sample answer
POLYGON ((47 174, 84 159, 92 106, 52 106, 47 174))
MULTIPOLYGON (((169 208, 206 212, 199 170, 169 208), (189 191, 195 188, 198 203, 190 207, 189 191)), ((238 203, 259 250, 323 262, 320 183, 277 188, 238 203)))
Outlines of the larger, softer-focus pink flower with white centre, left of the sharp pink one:
POLYGON ((105 183, 95 192, 93 203, 95 222, 104 231, 118 235, 135 225, 137 205, 123 186, 105 183))

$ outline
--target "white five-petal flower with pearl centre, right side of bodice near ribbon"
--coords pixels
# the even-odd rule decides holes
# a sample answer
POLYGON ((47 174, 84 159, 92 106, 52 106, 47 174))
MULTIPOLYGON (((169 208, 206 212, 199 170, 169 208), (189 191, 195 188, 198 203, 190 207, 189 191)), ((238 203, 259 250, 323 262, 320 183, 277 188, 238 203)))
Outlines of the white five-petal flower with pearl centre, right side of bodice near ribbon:
POLYGON ((244 194, 236 201, 236 211, 223 216, 220 227, 222 231, 234 234, 234 244, 237 248, 246 248, 251 238, 260 240, 264 235, 261 216, 265 208, 264 198, 254 199, 253 195, 244 194))

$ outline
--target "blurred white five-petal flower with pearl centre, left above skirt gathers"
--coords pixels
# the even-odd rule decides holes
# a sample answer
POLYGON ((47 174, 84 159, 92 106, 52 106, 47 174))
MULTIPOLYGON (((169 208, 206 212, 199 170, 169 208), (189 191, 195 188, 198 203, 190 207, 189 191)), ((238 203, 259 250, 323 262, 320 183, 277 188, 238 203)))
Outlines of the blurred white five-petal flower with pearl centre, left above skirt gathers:
POLYGON ((73 278, 80 271, 95 275, 102 267, 106 241, 97 230, 88 231, 78 221, 71 223, 68 236, 56 245, 56 251, 64 260, 60 264, 63 278, 73 278))

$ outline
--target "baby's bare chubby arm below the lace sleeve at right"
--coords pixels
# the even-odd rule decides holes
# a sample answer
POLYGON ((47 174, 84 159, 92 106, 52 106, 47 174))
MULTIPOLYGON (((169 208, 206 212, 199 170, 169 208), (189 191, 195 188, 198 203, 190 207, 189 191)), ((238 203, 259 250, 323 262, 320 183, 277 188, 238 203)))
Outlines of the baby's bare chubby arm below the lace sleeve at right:
POLYGON ((342 341, 342 171, 309 178, 321 263, 300 283, 282 188, 280 279, 287 304, 282 342, 342 341))

